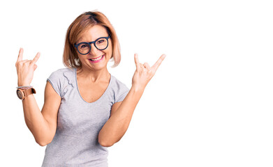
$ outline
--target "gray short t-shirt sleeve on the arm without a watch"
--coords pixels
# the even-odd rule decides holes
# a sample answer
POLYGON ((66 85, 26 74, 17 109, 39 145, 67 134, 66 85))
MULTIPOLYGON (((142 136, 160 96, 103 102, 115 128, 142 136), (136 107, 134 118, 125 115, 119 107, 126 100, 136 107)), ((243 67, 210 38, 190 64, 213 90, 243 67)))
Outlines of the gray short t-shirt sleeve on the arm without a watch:
POLYGON ((115 87, 116 87, 115 88, 115 103, 121 102, 124 100, 124 98, 128 94, 129 89, 125 84, 121 83, 121 81, 119 80, 116 80, 115 87))

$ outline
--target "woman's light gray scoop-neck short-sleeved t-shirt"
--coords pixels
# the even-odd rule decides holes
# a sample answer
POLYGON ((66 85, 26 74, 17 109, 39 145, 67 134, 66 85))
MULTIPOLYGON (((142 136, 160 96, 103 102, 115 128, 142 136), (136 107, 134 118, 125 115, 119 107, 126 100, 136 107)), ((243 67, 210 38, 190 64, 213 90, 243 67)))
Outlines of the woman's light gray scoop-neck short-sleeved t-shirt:
POLYGON ((57 131, 45 149, 43 166, 108 166, 108 149, 98 143, 98 133, 110 118, 112 105, 124 100, 126 85, 111 75, 108 88, 95 102, 80 95, 76 68, 52 72, 47 79, 61 97, 57 131))

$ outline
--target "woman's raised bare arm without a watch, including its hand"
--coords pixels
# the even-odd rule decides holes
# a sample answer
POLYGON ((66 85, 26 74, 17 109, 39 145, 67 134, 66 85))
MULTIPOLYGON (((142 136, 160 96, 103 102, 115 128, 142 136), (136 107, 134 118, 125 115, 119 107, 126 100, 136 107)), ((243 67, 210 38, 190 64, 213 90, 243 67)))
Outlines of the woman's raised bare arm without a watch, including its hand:
POLYGON ((124 101, 117 102, 112 106, 111 116, 98 134, 98 142, 101 145, 110 147, 124 136, 145 87, 164 58, 165 55, 162 55, 152 67, 149 67, 147 63, 143 65, 139 63, 138 55, 135 54, 136 70, 133 76, 132 88, 124 101))

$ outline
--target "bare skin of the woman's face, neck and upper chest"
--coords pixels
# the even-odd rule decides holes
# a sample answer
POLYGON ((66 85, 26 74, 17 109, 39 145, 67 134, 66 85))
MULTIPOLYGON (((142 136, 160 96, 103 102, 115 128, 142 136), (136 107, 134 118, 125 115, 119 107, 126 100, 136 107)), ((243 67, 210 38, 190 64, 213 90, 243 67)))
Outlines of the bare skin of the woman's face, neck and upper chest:
MULTIPOLYGON (((95 25, 91 29, 86 31, 80 40, 80 42, 90 42, 101 37, 108 37, 108 33, 102 26, 95 25)), ((89 54, 82 55, 78 53, 80 62, 82 62, 82 68, 78 68, 77 80, 80 95, 86 102, 94 102, 98 100, 105 92, 110 81, 110 73, 107 69, 107 63, 112 56, 112 43, 108 40, 108 47, 104 50, 98 50, 94 45, 91 45, 91 51, 89 54), (99 63, 92 63, 90 58, 97 58, 103 56, 99 63)))

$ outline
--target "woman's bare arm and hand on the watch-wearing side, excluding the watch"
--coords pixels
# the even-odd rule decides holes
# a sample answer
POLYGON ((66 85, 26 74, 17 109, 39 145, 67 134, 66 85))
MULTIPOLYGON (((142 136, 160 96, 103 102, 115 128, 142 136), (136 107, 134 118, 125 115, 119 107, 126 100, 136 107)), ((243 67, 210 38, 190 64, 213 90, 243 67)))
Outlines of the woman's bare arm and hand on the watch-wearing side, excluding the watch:
MULTIPOLYGON (((23 50, 16 62, 18 86, 29 86, 36 69, 36 61, 40 54, 38 53, 34 60, 22 61, 23 50)), ((52 86, 47 82, 45 87, 45 104, 42 112, 40 111, 34 95, 27 96, 22 100, 24 110, 24 120, 27 127, 34 135, 36 142, 41 145, 47 145, 52 141, 57 128, 57 111, 61 104, 61 97, 54 91, 52 86)))

